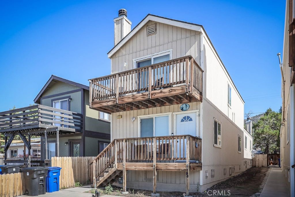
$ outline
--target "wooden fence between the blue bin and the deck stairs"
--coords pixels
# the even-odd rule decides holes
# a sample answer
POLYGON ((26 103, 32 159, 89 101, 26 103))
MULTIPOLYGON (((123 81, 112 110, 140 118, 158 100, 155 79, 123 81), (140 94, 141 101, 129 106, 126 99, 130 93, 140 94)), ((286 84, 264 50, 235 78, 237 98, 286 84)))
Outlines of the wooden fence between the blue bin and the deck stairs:
MULTIPOLYGON (((95 157, 52 157, 51 166, 61 167, 59 187, 73 187, 76 182, 90 184, 89 163, 95 157)), ((92 181, 92 180, 91 180, 92 181)))

